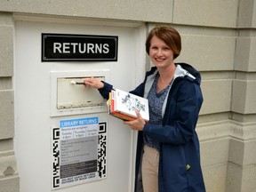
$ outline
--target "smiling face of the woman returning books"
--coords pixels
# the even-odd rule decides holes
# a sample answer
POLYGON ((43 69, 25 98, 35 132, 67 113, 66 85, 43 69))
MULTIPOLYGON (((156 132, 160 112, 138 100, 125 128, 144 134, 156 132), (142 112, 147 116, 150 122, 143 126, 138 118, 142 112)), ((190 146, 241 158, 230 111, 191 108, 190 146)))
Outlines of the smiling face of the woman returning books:
POLYGON ((163 40, 153 36, 149 47, 150 60, 156 68, 167 68, 173 63, 173 52, 163 40))

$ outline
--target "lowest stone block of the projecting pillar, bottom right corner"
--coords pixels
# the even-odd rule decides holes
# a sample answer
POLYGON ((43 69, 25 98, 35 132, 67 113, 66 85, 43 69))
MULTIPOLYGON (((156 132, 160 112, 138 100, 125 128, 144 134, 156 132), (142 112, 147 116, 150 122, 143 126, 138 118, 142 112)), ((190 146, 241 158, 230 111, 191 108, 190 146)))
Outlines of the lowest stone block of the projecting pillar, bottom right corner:
POLYGON ((227 191, 255 192, 256 129, 255 124, 234 124, 228 154, 227 191))

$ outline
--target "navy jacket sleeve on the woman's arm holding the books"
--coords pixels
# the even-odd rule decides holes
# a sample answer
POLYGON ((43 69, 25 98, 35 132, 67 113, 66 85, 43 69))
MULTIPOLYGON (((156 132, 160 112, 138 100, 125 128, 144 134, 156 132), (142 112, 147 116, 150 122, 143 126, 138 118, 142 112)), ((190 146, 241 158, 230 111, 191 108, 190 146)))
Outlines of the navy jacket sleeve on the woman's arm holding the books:
POLYGON ((195 134, 199 110, 203 103, 200 86, 187 81, 180 85, 176 93, 178 96, 175 102, 169 102, 165 109, 164 126, 145 124, 143 129, 148 136, 162 143, 183 144, 195 134))

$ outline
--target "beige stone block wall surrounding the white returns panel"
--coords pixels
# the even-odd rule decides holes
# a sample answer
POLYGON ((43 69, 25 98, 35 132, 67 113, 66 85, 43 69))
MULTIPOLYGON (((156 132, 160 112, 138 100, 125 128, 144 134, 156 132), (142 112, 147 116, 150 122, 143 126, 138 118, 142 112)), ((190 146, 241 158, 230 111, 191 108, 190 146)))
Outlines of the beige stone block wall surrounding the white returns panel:
POLYGON ((185 61, 202 73, 197 132, 207 192, 256 190, 255 0, 4 0, 0 2, 0 192, 19 191, 13 149, 15 17, 134 20, 172 24, 185 61))

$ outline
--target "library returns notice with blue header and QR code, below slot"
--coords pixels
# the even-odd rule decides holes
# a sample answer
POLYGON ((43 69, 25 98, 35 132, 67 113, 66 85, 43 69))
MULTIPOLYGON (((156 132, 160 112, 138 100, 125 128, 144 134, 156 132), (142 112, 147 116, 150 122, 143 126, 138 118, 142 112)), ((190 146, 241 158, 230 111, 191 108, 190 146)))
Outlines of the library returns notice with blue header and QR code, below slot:
POLYGON ((104 153, 101 151, 99 156, 102 125, 106 128, 106 124, 99 124, 98 117, 93 116, 60 120, 60 129, 53 129, 53 189, 106 177, 101 174, 100 165, 104 153))

